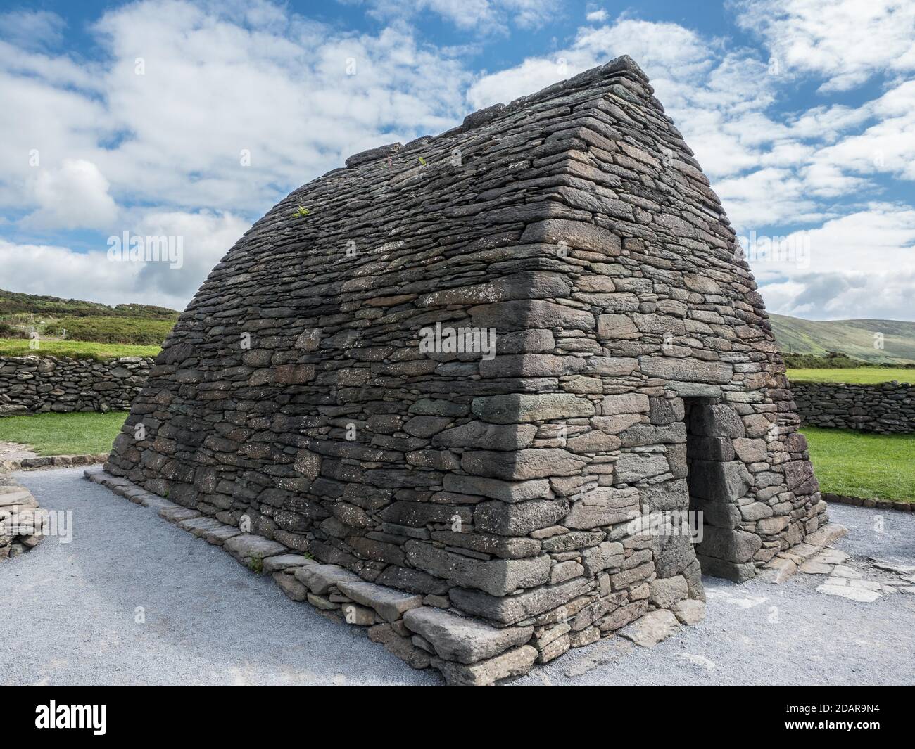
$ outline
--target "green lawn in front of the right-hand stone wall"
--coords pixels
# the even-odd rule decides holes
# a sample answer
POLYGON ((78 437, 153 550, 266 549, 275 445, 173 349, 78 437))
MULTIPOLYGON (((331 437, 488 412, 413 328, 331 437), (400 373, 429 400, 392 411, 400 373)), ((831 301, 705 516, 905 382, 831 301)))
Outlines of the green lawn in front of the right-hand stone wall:
POLYGON ((865 434, 805 426, 820 490, 915 502, 915 434, 865 434))

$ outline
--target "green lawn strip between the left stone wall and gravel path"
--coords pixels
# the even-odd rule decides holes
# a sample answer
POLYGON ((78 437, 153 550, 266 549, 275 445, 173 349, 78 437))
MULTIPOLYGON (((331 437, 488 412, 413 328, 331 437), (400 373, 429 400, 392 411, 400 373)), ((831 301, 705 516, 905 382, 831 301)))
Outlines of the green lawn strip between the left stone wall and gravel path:
POLYGON ((38 455, 107 453, 127 413, 36 413, 0 419, 0 441, 31 445, 38 455))

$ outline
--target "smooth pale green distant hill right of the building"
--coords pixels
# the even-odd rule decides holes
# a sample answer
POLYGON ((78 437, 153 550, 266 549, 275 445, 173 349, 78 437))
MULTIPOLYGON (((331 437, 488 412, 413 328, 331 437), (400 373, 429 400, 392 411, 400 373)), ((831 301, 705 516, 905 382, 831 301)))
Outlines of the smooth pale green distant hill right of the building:
POLYGON ((824 356, 841 351, 852 358, 879 364, 915 363, 915 323, 901 320, 802 320, 770 315, 783 353, 824 356), (874 334, 883 334, 883 348, 874 348, 874 334))

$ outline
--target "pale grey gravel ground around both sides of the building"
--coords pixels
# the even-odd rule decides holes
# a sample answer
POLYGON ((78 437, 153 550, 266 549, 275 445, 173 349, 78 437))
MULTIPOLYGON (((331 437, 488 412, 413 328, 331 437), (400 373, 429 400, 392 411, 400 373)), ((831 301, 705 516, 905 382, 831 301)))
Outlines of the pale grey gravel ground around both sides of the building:
MULTIPOLYGON (((349 627, 280 593, 217 547, 82 478, 21 473, 42 507, 72 510, 70 543, 0 562, 0 682, 7 684, 438 684, 349 627), (145 623, 137 623, 142 607, 145 623)), ((834 506, 836 547, 915 564, 915 515, 834 506), (881 525, 882 524, 882 525, 881 525)), ((735 585, 705 579, 708 616, 652 649, 611 638, 514 684, 915 683, 915 595, 858 603, 822 575, 735 585)))

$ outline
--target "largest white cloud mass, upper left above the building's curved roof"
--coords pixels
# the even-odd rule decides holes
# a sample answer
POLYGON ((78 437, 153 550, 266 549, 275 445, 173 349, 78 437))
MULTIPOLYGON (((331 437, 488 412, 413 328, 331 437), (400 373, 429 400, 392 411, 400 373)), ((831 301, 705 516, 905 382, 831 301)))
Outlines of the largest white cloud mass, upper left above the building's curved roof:
POLYGON ((284 13, 257 5, 239 25, 218 5, 125 5, 94 27, 110 59, 85 68, 0 43, 0 209, 34 207, 38 149, 52 173, 91 162, 121 204, 256 216, 347 155, 466 113, 461 64, 409 28, 358 35, 284 13))

